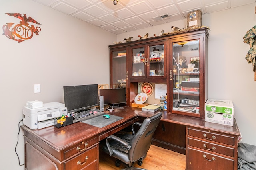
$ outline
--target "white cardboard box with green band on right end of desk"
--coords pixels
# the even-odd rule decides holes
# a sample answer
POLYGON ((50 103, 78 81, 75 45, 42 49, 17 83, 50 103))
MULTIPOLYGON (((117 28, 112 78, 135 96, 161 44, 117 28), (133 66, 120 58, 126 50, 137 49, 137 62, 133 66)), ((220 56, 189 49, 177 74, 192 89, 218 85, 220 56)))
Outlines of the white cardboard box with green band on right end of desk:
POLYGON ((208 99, 205 103, 204 109, 205 121, 233 126, 234 106, 232 101, 208 99))

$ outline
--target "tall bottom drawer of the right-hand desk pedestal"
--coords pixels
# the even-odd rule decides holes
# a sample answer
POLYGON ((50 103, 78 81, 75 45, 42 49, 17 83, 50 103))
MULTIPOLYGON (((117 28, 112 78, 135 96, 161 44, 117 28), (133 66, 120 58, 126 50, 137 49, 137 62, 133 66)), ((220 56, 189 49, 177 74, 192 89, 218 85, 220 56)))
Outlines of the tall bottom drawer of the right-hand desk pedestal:
POLYGON ((234 160, 188 148, 188 170, 234 170, 234 160))

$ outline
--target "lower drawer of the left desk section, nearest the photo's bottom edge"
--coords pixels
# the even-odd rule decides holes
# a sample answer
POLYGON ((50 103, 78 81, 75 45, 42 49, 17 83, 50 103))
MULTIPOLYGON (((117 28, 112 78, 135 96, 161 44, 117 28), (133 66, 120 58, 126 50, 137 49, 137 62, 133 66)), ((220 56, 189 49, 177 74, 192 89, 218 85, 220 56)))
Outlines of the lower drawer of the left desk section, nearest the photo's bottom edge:
POLYGON ((78 156, 72 158, 64 162, 64 169, 65 170, 80 170, 84 169, 86 166, 90 166, 92 162, 97 163, 98 158, 98 145, 82 152, 78 156))

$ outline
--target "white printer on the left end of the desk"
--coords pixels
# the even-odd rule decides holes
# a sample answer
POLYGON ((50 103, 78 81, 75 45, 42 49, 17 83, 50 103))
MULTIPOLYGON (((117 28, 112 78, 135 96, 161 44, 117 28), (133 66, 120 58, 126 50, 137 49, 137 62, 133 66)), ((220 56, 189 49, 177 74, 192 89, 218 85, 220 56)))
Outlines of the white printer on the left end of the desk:
POLYGON ((43 107, 32 109, 24 106, 23 123, 30 129, 42 129, 54 125, 54 118, 68 114, 65 104, 50 102, 43 104, 43 107))

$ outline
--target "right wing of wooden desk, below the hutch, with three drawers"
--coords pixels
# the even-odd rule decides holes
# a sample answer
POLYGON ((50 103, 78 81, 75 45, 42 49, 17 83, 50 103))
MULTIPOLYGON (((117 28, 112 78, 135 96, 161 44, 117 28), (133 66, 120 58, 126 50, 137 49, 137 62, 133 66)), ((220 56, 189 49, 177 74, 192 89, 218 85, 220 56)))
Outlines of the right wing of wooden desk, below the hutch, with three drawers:
MULTIPOLYGON (((148 117, 152 114, 144 111, 139 115, 148 117)), ((185 146, 186 170, 236 170, 239 135, 235 119, 234 126, 227 126, 164 112, 152 144, 183 153, 182 147, 165 141, 170 138, 181 139, 180 143, 185 146), (180 130, 182 128, 184 131, 180 130)))

